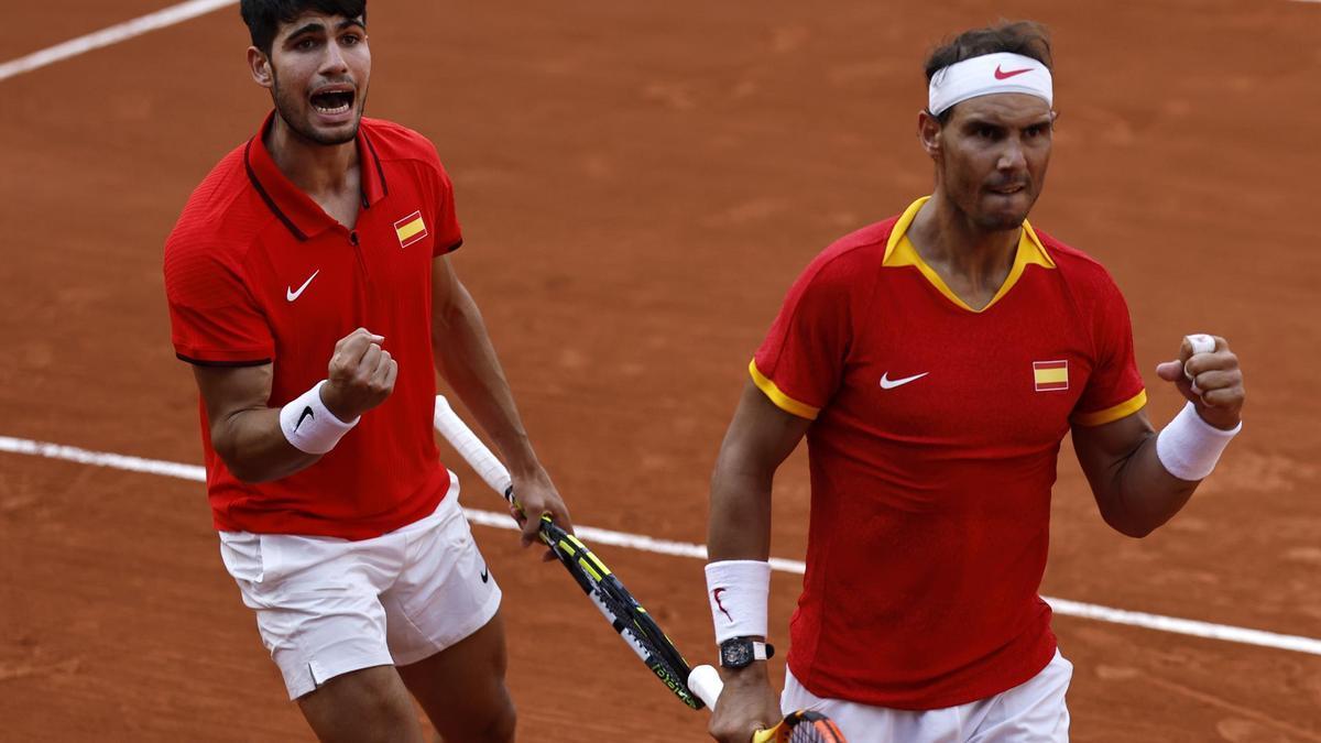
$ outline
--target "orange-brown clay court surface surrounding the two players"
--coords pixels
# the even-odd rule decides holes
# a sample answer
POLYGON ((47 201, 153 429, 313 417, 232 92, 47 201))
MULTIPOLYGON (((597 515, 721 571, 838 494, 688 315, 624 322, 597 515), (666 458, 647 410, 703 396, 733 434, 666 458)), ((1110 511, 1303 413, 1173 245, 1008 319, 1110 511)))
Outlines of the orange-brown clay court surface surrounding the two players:
MULTIPOLYGON (((166 4, 16 4, 3 56, 166 4)), ((1321 637, 1321 5, 1086 8, 373 3, 369 111, 437 143, 454 264, 576 521, 703 542, 707 476, 790 280, 930 185, 925 52, 999 16, 1050 24, 1061 119, 1033 222, 1124 290, 1157 424, 1180 402, 1152 369, 1188 332, 1230 338, 1250 399, 1221 469, 1144 541, 1102 524, 1066 444, 1042 592, 1321 637)), ((201 461, 161 245, 267 111, 246 44, 229 7, 0 81, 0 436, 201 461)), ((450 464, 465 505, 498 510, 450 464)), ((778 557, 802 558, 806 481, 799 452, 777 481, 778 557)), ((705 713, 559 567, 474 530, 506 591, 520 739, 703 739, 705 713)), ((598 553, 690 660, 713 658, 700 561, 598 553)), ((775 574, 777 637, 797 584, 775 574)), ((1067 616, 1055 631, 1074 740, 1321 740, 1318 654, 1067 616)), ((0 453, 0 739, 309 738, 201 484, 0 453)))

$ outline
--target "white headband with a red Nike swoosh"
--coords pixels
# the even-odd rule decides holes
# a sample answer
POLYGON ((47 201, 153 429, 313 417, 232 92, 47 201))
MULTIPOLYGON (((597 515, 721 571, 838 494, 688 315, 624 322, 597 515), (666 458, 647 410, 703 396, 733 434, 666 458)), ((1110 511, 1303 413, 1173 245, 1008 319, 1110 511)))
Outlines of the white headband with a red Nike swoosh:
POLYGON ((1008 52, 955 62, 931 75, 927 110, 939 116, 955 103, 996 93, 1025 93, 1052 106, 1054 87, 1050 70, 1032 57, 1008 52))

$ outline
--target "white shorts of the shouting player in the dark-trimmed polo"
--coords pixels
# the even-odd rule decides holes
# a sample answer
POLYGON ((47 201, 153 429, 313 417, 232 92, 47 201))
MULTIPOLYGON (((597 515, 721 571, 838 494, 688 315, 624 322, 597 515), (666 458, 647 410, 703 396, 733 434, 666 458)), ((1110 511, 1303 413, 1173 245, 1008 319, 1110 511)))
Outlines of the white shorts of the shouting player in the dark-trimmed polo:
POLYGON ((495 616, 501 590, 449 477, 435 513, 371 539, 221 531, 291 699, 351 670, 415 664, 495 616))

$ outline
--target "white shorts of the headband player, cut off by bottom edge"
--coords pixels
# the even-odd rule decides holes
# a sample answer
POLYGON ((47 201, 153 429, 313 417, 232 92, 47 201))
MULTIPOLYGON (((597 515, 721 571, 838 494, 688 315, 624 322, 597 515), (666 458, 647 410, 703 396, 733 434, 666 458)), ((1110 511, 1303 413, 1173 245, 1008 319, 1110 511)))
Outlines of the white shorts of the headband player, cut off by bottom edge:
POLYGON ((1070 678, 1073 664, 1055 650, 1041 673, 995 697, 941 710, 892 710, 822 699, 786 673, 779 706, 785 714, 820 711, 848 743, 1067 743, 1070 678))

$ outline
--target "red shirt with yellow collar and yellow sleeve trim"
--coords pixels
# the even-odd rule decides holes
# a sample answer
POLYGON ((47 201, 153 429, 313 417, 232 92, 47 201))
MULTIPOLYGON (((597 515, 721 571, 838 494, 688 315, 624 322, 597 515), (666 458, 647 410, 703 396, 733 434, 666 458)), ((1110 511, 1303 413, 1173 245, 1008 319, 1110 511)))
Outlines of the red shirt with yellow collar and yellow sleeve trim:
POLYGON ((789 666, 819 697, 911 710, 999 694, 1050 661, 1037 590, 1059 443, 1147 401, 1100 264, 1025 225, 974 311, 905 237, 925 201, 812 260, 750 365, 814 419, 789 666))

